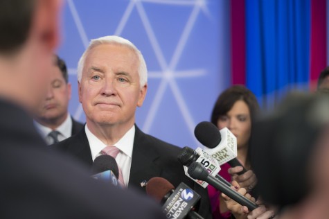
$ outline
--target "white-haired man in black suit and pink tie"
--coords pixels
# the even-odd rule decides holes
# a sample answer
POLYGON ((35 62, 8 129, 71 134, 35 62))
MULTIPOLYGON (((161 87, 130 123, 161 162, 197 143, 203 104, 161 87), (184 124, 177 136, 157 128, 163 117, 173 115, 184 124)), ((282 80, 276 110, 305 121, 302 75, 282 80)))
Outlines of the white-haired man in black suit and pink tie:
POLYGON ((92 40, 78 63, 85 129, 53 148, 87 166, 99 155, 112 155, 118 163, 119 181, 142 191, 152 177, 164 177, 174 186, 185 182, 202 195, 199 214, 211 218, 206 189, 186 177, 177 160, 181 149, 144 134, 135 125, 136 107, 143 105, 147 78, 143 55, 132 42, 117 36, 92 40))

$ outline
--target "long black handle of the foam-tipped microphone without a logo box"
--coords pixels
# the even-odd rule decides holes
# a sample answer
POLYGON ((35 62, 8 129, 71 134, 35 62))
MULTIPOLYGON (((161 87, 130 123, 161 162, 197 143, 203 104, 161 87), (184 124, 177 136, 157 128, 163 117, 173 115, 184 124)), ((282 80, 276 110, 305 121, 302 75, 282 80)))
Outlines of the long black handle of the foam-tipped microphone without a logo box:
POLYGON ((235 200, 235 202, 238 202, 242 206, 246 206, 249 209, 249 211, 252 211, 258 207, 257 204, 255 204, 254 202, 251 202, 251 200, 245 198, 237 191, 234 191, 233 189, 231 189, 229 186, 226 186, 226 184, 224 184, 220 180, 216 179, 212 175, 208 175, 208 177, 206 178, 206 182, 208 182, 208 184, 211 184, 212 186, 214 186, 216 189, 218 189, 225 195, 229 196, 229 198, 235 200))

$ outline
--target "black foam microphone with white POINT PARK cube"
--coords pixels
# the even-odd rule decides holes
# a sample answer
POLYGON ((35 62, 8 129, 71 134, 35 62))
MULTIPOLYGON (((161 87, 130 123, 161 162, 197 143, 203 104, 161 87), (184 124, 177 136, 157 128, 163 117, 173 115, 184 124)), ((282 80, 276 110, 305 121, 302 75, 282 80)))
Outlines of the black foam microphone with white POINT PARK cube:
MULTIPOLYGON (((210 122, 201 122, 197 124, 194 130, 197 141, 202 143, 208 149, 205 149, 211 156, 217 159, 220 165, 229 163, 230 166, 242 166, 240 161, 236 159, 237 143, 236 137, 228 128, 218 131, 218 128, 210 122)), ((242 166, 243 170, 238 173, 242 175, 247 169, 242 166)))

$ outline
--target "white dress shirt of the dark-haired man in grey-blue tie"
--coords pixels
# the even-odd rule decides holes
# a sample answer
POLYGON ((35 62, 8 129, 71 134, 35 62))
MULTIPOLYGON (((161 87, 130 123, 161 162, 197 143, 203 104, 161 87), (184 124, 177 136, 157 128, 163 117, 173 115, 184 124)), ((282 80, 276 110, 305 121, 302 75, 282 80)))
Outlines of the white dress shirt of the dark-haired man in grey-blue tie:
MULTIPOLYGON (((53 142, 53 138, 49 137, 48 134, 53 131, 51 128, 48 128, 37 121, 34 121, 35 127, 41 134, 42 138, 46 141, 48 145, 51 145, 53 142)), ((71 137, 72 135, 72 118, 69 114, 67 114, 65 121, 56 128, 57 132, 60 132, 58 134, 58 141, 63 141, 64 139, 67 139, 71 137)))

